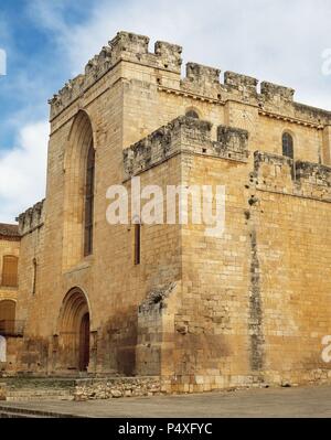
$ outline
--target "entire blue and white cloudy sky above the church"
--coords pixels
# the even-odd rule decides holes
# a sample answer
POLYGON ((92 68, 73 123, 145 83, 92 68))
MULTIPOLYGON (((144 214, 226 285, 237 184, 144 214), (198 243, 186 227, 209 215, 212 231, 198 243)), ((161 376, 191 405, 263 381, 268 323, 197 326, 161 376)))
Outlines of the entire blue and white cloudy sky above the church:
POLYGON ((1 0, 0 222, 44 196, 50 98, 119 30, 331 109, 330 0, 1 0))

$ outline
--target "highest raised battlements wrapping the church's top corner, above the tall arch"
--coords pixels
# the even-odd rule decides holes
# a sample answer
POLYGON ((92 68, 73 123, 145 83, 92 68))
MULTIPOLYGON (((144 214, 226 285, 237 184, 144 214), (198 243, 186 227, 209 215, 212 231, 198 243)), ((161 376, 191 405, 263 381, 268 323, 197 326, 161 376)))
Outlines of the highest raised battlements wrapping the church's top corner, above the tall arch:
POLYGON ((65 86, 49 100, 51 105, 51 119, 64 108, 70 106, 93 84, 100 79, 109 69, 120 61, 146 64, 180 74, 182 65, 182 47, 177 44, 158 41, 154 53, 148 51, 149 37, 129 32, 118 34, 104 46, 85 66, 84 75, 78 75, 68 81, 65 86))

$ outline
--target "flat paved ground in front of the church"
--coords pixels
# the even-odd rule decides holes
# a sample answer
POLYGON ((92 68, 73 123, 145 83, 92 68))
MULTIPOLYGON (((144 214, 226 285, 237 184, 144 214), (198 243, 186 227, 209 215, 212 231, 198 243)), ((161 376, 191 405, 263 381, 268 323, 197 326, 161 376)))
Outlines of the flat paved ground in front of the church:
POLYGON ((331 386, 252 389, 190 396, 126 398, 87 403, 7 403, 32 410, 83 417, 331 417, 331 386))

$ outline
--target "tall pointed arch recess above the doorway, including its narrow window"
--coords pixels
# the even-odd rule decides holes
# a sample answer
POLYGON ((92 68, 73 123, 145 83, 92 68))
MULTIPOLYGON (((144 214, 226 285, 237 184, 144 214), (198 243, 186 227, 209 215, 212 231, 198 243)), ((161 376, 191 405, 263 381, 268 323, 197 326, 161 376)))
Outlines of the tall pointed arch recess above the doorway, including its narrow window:
POLYGON ((79 110, 73 121, 65 153, 64 269, 78 264, 86 256, 85 198, 92 149, 95 150, 92 122, 89 116, 79 110))

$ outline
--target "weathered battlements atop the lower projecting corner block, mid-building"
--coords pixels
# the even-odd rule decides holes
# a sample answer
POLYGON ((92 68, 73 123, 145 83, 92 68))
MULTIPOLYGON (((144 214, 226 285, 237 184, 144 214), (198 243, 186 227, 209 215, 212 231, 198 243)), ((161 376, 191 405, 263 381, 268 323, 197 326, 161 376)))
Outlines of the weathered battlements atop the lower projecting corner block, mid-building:
POLYGON ((181 152, 246 162, 248 132, 220 126, 214 141, 211 122, 181 116, 124 150, 125 179, 181 152))

